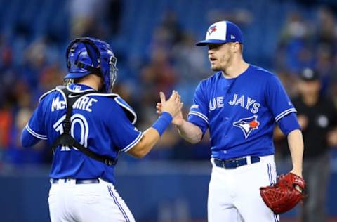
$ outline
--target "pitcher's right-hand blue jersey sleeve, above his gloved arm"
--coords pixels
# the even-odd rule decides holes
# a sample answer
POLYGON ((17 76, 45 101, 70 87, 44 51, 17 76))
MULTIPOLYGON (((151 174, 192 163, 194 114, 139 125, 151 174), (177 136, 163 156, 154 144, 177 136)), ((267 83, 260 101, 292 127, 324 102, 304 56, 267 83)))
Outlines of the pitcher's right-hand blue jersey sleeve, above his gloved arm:
POLYGON ((266 93, 267 106, 270 108, 275 122, 291 112, 296 112, 284 87, 275 75, 268 79, 266 93))

